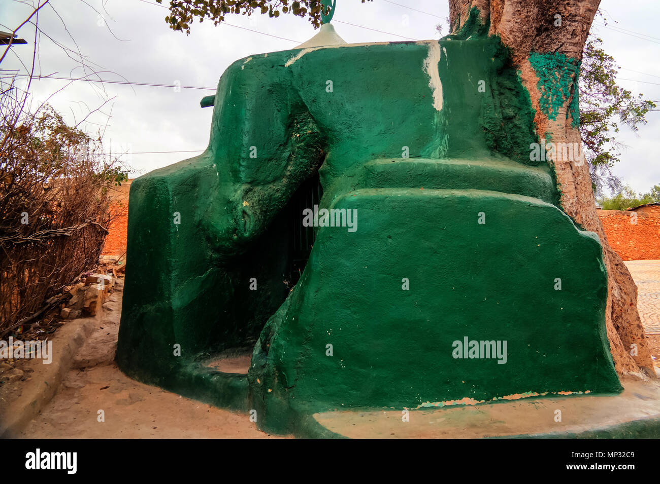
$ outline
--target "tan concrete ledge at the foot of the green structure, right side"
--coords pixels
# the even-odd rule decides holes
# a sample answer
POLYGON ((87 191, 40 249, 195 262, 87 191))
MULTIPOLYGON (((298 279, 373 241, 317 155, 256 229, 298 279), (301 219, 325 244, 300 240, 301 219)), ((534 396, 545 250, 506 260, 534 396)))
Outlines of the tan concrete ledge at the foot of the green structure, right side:
POLYGON ((327 431, 353 439, 659 438, 660 384, 631 379, 622 384, 620 394, 531 396, 409 414, 391 408, 334 410, 314 419, 327 431))

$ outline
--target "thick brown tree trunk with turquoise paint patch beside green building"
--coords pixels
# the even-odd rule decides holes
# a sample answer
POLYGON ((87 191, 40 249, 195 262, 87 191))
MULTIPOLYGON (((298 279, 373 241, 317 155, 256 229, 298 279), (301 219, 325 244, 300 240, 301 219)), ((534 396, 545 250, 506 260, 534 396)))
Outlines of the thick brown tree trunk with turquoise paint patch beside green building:
POLYGON ((553 143, 579 146, 579 157, 573 157, 575 161, 550 155, 549 163, 554 167, 561 191, 560 208, 601 239, 608 274, 607 336, 616 371, 620 375, 646 379, 644 373, 655 375, 655 372, 637 311, 637 286, 626 265, 607 242, 595 207, 589 167, 583 161, 578 120, 574 122, 573 119, 578 117, 578 111, 570 110, 572 97, 578 92, 577 75, 569 77, 570 97, 562 99, 552 119, 553 116, 545 112, 547 107, 543 109, 539 76, 530 62, 535 53, 563 54, 573 65, 579 66, 599 3, 600 0, 449 0, 449 19, 452 34, 459 34, 461 29, 469 30, 473 28, 471 22, 475 17, 473 12, 471 18, 471 11, 476 7, 481 24, 488 26, 488 35, 499 36, 510 48, 512 61, 520 71, 521 82, 529 91, 536 111, 537 134, 549 136, 553 143), (636 352, 633 345, 636 345, 636 352))

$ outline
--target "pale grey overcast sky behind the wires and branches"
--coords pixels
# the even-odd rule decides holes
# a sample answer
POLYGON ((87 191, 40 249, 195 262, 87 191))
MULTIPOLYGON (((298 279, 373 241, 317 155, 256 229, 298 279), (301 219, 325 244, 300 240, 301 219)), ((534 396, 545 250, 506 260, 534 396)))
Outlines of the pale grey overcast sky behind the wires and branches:
MULTIPOLYGON (((164 22, 168 10, 155 0, 85 1, 51 0, 54 9, 47 5, 40 11, 43 34, 38 42, 36 74, 79 78, 96 70, 100 73, 92 78, 168 86, 47 79, 33 82, 32 92, 36 100, 42 101, 69 84, 49 100, 68 122, 81 121, 90 110, 114 98, 81 126, 96 132, 112 113, 104 140, 113 152, 131 153, 125 159, 135 169, 132 176, 176 163, 206 148, 213 108, 201 109, 199 101, 214 94, 220 75, 230 63, 255 53, 291 49, 315 34, 310 22, 300 17, 271 19, 255 14, 251 18, 228 16, 226 25, 219 26, 195 22, 186 36, 168 28, 164 22), (46 36, 79 49, 90 67, 85 72, 46 36), (177 84, 209 90, 172 87, 177 84)), ((32 11, 30 3, 2 0, 0 30, 14 30, 32 11)), ((168 5, 169 1, 164 3, 168 5)), ((660 32, 656 30, 660 2, 603 0, 601 10, 609 24, 604 27, 597 20, 592 32, 603 38, 603 47, 622 67, 620 85, 660 101, 660 32)), ((447 33, 448 14, 446 0, 374 0, 365 4, 360 0, 338 0, 333 24, 348 43, 424 40, 439 38, 435 29, 438 23, 447 33)), ((12 47, 11 55, 1 65, 3 70, 26 72, 20 61, 31 65, 34 30, 30 24, 21 28, 20 37, 28 45, 12 47)), ((634 190, 644 192, 660 184, 660 111, 648 113, 647 120, 637 134, 622 128, 619 140, 628 148, 614 169, 634 190)))

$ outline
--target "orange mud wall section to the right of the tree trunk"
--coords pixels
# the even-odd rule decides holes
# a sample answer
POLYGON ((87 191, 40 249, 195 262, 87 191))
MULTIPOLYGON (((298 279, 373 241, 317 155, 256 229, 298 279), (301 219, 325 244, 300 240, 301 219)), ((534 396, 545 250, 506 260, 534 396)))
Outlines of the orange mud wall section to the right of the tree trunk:
POLYGON ((660 259, 660 205, 599 210, 612 249, 624 261, 660 259))

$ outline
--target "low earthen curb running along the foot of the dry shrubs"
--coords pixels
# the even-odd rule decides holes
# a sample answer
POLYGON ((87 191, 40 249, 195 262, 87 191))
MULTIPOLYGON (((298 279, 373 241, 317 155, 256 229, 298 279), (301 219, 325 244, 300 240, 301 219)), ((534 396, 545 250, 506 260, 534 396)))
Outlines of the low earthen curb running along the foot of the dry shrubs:
POLYGON ((42 360, 28 362, 28 367, 34 369, 34 372, 30 380, 25 382, 20 397, 9 404, 5 408, 5 415, 0 417, 0 438, 18 436, 30 420, 48 404, 71 369, 82 344, 96 329, 99 321, 100 314, 68 321, 53 335, 53 361, 48 365, 42 360))

